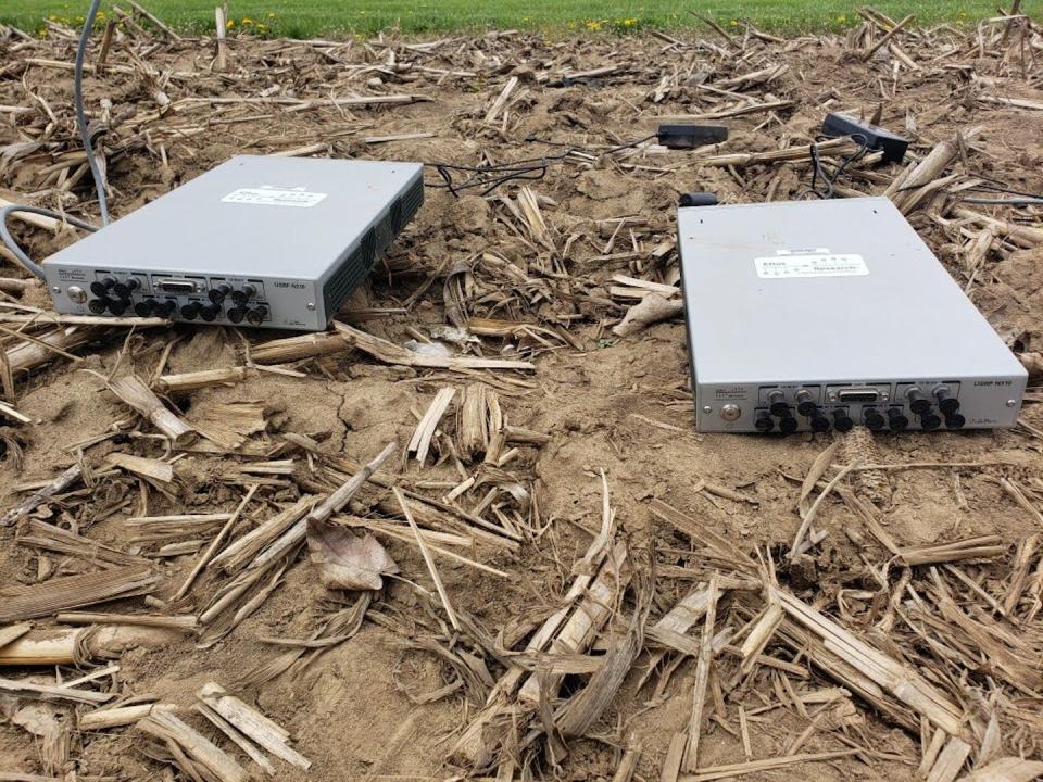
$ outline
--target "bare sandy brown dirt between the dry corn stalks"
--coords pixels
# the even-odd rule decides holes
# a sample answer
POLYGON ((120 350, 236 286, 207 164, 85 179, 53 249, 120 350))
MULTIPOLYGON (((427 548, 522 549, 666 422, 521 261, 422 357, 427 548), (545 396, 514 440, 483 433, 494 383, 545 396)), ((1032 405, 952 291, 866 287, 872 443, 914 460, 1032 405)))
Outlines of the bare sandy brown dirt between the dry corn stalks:
MULTIPOLYGON (((865 62, 839 38, 786 43, 754 39, 749 52, 727 59, 694 41, 671 47, 654 37, 546 41, 490 34, 477 39, 454 38, 432 47, 393 38, 342 46, 242 39, 231 41, 230 66, 225 74, 210 70, 213 53, 209 43, 174 46, 160 40, 143 56, 155 74, 151 80, 131 67, 130 51, 140 52, 141 42, 128 37, 114 43, 110 62, 127 66, 127 72, 111 70, 91 75, 88 96, 92 111, 98 111, 100 99, 108 98, 112 116, 124 118, 122 124, 115 123, 104 141, 116 217, 240 153, 273 154, 321 144, 322 149, 312 154, 475 164, 482 155, 502 162, 556 154, 560 149, 526 141, 528 137, 590 150, 588 159, 570 157, 551 166, 539 180, 525 184, 541 199, 553 252, 535 241, 513 214, 513 200, 522 187, 518 182, 508 182, 486 195, 472 191, 461 199, 429 188, 420 214, 340 316, 397 344, 416 339, 417 333, 437 336, 449 323, 443 292, 447 272, 463 262, 469 269, 465 301, 469 317, 524 320, 567 330, 568 342, 554 340, 545 345, 535 340, 480 340, 478 350, 486 356, 531 357, 537 366, 533 374, 467 377, 418 371, 385 366, 361 352, 344 351, 294 364, 293 368, 305 376, 302 378, 265 374, 171 401, 186 415, 209 405, 262 401, 269 409, 268 428, 253 436, 255 441, 276 443, 286 432, 307 434, 327 454, 366 462, 386 443, 404 446, 416 427, 411 409, 426 411, 440 388, 449 384, 462 389, 486 378, 498 389, 511 425, 550 436, 546 444, 522 445, 517 458, 505 468, 531 489, 538 500, 539 526, 545 525, 545 531, 527 535, 515 555, 488 548, 475 553, 482 563, 507 570, 511 578, 440 563, 454 605, 492 636, 512 621, 542 619, 556 607, 571 582, 573 563, 582 556, 600 525, 600 470, 607 477, 620 533, 633 542, 634 548, 654 545, 657 563, 694 567, 689 542, 653 519, 646 507, 649 500, 657 497, 684 510, 747 551, 756 548, 763 554, 770 546, 778 554, 789 546, 800 525, 796 504, 801 480, 815 457, 838 438, 844 440, 840 463, 847 463, 856 452, 867 453, 881 464, 980 463, 962 469, 881 471, 859 476, 851 484, 879 510, 881 525, 901 546, 1000 535, 1011 545, 996 563, 995 572, 1005 575, 1014 544, 1041 531, 1038 516, 1019 507, 1000 484, 1001 477, 1010 477, 1032 492, 1043 489, 1043 416, 1034 405, 1035 391, 1030 391, 1023 412, 1026 426, 1009 431, 862 439, 834 433, 788 438, 704 436, 693 429, 682 321, 658 324, 627 339, 617 339, 610 330, 630 303, 610 297, 613 275, 671 280, 676 255, 668 252, 656 257, 652 251, 673 241, 674 207, 680 193, 708 190, 722 202, 740 203, 764 200, 772 188, 776 200, 787 200, 800 197, 809 182, 805 162, 729 169, 701 165, 688 152, 628 151, 600 156, 601 150, 654 133, 658 115, 698 114, 733 104, 727 96, 701 89, 703 84, 767 65, 788 66, 769 84, 737 89, 758 101, 776 98, 793 101, 793 105, 770 114, 758 112, 725 119, 731 138, 720 153, 806 143, 816 134, 825 111, 842 109, 868 116, 883 94, 882 124, 908 134, 917 159, 937 142, 979 126, 975 149, 966 163, 955 164, 954 171, 993 176, 1017 190, 1043 191, 1043 113, 1014 111, 977 99, 984 93, 1039 102, 1043 100, 1039 72, 1030 71, 1028 78, 1022 78, 1016 63, 1001 65, 993 52, 978 58, 973 46, 933 63, 926 34, 914 35, 903 46, 922 67, 917 72, 903 67, 895 84, 893 59, 887 50, 865 62), (966 63, 966 68, 956 67, 958 63, 966 63), (562 79, 562 74, 608 66, 617 70, 607 75, 562 79), (506 112, 486 122, 487 111, 512 76, 519 81, 506 112), (654 102, 664 77, 669 89, 661 102, 654 102), (148 118, 156 112, 156 79, 175 101, 175 108, 162 117, 148 118), (379 79, 379 84, 373 79, 379 79), (265 104, 221 105, 213 111, 177 105, 178 99, 189 96, 256 97, 276 87, 273 94, 281 97, 413 93, 429 100, 386 108, 293 112, 265 104), (416 133, 433 137, 387 143, 364 141, 367 137, 416 133), (512 199, 511 204, 504 199, 512 199), (606 230, 602 222, 620 217, 634 222, 612 238, 612 229, 606 230), (490 256, 513 264, 531 285, 519 285, 504 275, 490 256), (416 295, 429 281, 432 285, 416 295), (406 304, 409 312, 375 312, 406 304), (715 496, 705 490, 706 484, 739 491, 749 501, 715 496)), ((945 34, 938 35, 942 40, 945 34)), ((737 34, 736 40, 740 39, 741 34, 737 34)), ((966 43, 964 39, 954 40, 960 47, 966 43)), ((71 61, 72 42, 50 40, 24 49, 18 45, 16 38, 0 41, 0 104, 35 105, 35 110, 28 115, 4 114, 0 106, 0 160, 5 149, 35 138, 47 122, 39 104, 27 98, 29 92, 43 98, 55 111, 61 108, 60 122, 32 154, 20 155, 11 164, 0 163, 0 187, 9 191, 0 195, 42 193, 38 202, 54 205, 58 197, 53 188, 60 184, 41 169, 61 160, 66 150, 78 149, 72 114, 66 109, 70 74, 26 66, 25 60, 71 61), (25 128, 33 128, 33 136, 25 128)), ((868 169, 842 181, 860 192, 880 193, 887 187, 884 175, 890 179, 897 172, 892 166, 868 169)), ((437 182, 438 177, 431 173, 428 180, 437 182)), ((70 209, 78 200, 89 199, 86 180, 62 198, 70 209)), ((939 217, 945 214, 943 205, 947 209, 948 198, 916 211, 910 219, 963 286, 968 274, 963 265, 968 238, 951 216, 939 217)), ((1009 210, 978 209, 1004 219, 1010 217, 1009 210)), ((96 214, 92 207, 88 213, 96 214)), ((1036 227, 1039 214, 1035 212, 1036 227)), ((72 241, 67 234, 49 237, 21 225, 16 234, 37 257, 72 241)), ((158 238, 162 240, 166 239, 158 238)), ((1041 263, 1039 248, 1018 249, 1000 241, 971 289, 972 300, 1019 352, 1039 351, 1043 345, 1041 263)), ((22 276, 13 265, 3 267, 2 273, 22 276)), ((39 290, 14 301, 30 306, 47 304, 39 290)), ((814 319, 814 313, 808 316, 814 319)), ((282 336, 248 330, 237 335, 194 326, 144 329, 133 336, 123 330, 77 349, 81 361, 76 364, 59 358, 27 377, 15 378, 17 395, 12 401, 39 422, 18 428, 25 439, 21 465, 11 454, 0 463, 0 496, 4 496, 0 507, 15 504, 21 496, 15 493, 17 484, 48 480, 72 464, 75 454, 71 445, 101 436, 113 421, 126 418, 126 408, 101 393, 98 377, 86 369, 105 374, 122 353, 121 371, 134 370, 148 378, 172 340, 175 344, 166 373, 231 366, 242 361, 243 340, 256 344, 282 336)), ((451 350, 457 348, 451 345, 451 350)), ((452 418, 448 416, 444 424, 449 434, 454 431, 452 418)), ((147 426, 141 431, 151 433, 147 426)), ((439 442, 435 449, 437 464, 429 459, 418 466, 397 455, 390 472, 400 475, 403 485, 414 488, 424 481, 442 481, 443 485, 460 482, 454 459, 439 442)), ((126 432, 84 453, 97 467, 112 451, 156 458, 165 453, 155 439, 128 437, 126 432)), ((290 456, 297 459, 294 475, 277 476, 261 487, 259 501, 249 507, 246 526, 238 528, 237 534, 268 518, 278 505, 307 493, 310 478, 322 482, 318 476, 310 476, 300 453, 290 456)), ((165 494, 121 475, 80 487, 61 502, 46 505, 36 516, 131 553, 152 553, 155 544, 142 547, 129 542, 124 526, 126 518, 142 515, 146 495, 144 515, 231 510, 243 495, 244 481, 229 480, 223 470, 229 463, 243 459, 188 453, 175 463, 176 478, 165 487, 165 494)), ((447 490, 426 491, 441 496, 447 490)), ((461 503, 473 507, 483 493, 473 490, 461 497, 461 503)), ((384 492, 369 487, 357 495, 352 513, 379 515, 376 504, 381 499, 384 492)), ((835 613, 844 590, 876 589, 863 568, 867 563, 883 562, 887 554, 868 534, 863 520, 837 500, 824 503, 817 526, 827 533, 825 540, 795 564, 780 564, 779 577, 820 609, 835 613)), ((97 568, 83 557, 16 545, 10 532, 0 540, 0 586, 33 584, 97 568)), ((432 634, 437 627, 425 608, 437 606, 437 602, 418 601, 410 583, 432 589, 423 558, 412 544, 381 540, 402 578, 388 581, 357 634, 332 646, 296 676, 284 674, 240 691, 244 699, 285 726, 293 745, 313 761, 306 773, 280 765, 278 779, 415 780, 487 773, 449 760, 456 734, 481 705, 481 693, 457 690, 431 703, 414 703, 455 677, 442 658, 407 643, 409 631, 415 641, 432 634), (373 616, 384 620, 373 621, 373 616)), ((155 595, 168 598, 197 557, 198 553, 156 558, 162 579, 155 595)), ((993 578, 990 572, 980 569, 982 579, 993 578)), ((183 610, 199 610, 218 583, 219 579, 208 572, 183 604, 183 610)), ((991 582, 985 583, 990 588, 991 582)), ((675 605, 691 586, 691 581, 683 578, 657 579, 652 616, 675 605)), ((174 634, 151 647, 128 649, 116 660, 118 673, 105 679, 103 686, 124 694, 151 693, 160 701, 188 707, 203 683, 217 681, 230 686, 280 654, 282 649, 265 643, 265 639, 306 638, 330 610, 353 600, 353 595, 326 590, 315 566, 306 553, 302 554, 287 569, 281 585, 227 638, 199 648, 193 636, 174 634)), ((153 610, 142 609, 140 597, 100 609, 153 610)), ((858 611, 855 615, 859 616, 858 611)), ((610 623, 595 648, 604 649, 625 631, 627 616, 629 609, 610 623)), ((38 627, 52 623, 48 618, 34 621, 38 627)), ((437 621, 444 622, 444 617, 437 621)), ((1038 623, 1032 629, 1036 634, 1038 623)), ((698 640, 699 627, 692 636, 698 640)), ((681 664, 664 696, 654 697, 654 684, 637 689, 642 659, 590 734, 569 741, 569 753, 561 767, 531 768, 529 778, 608 779, 628 739, 637 739, 643 744, 637 778, 658 779, 670 736, 688 724, 694 665, 691 660, 681 664)), ((502 673, 502 667, 493 661, 489 665, 493 678, 502 673)), ((4 674, 22 677, 30 672, 46 679, 53 668, 8 669, 4 674)), ((73 677, 70 671, 64 676, 73 677)), ((828 681, 815 676, 820 684, 828 681)), ((578 681, 569 686, 577 686, 578 681)), ((751 688, 743 702, 747 708, 756 706, 764 693, 771 693, 767 678, 751 688)), ((716 721, 706 723, 701 765, 745 759, 737 733, 736 705, 727 706, 727 729, 716 721)), ((12 712, 12 705, 0 701, 0 772, 45 773, 39 740, 9 721, 12 712)), ((864 704, 860 714, 850 735, 879 753, 871 764, 845 758, 746 779, 791 780, 808 774, 822 780, 918 779, 918 736, 864 704)), ((217 737, 198 715, 186 719, 206 735, 217 737)), ((807 720, 793 709, 771 712, 771 719, 752 723, 753 757, 780 754, 806 724, 807 720)), ((164 770, 168 767, 139 752, 141 740, 134 729, 74 732, 66 770, 75 769, 83 778, 172 779, 164 770)), ((1043 735, 1028 731, 1019 741, 1021 752, 1040 757, 1043 735)), ((813 735, 802 751, 837 746, 829 734, 821 733, 813 735)), ((230 746, 226 748, 234 752, 230 746)), ((1019 751, 1018 746, 1007 748, 1019 751)), ((244 757, 240 759, 247 762, 244 757)), ((488 773, 495 772, 493 768, 488 773)))

